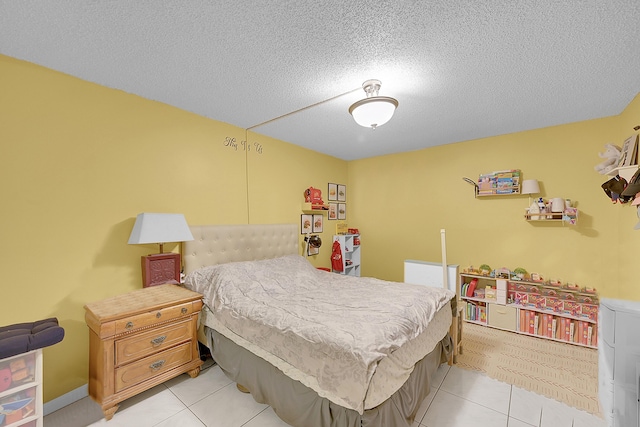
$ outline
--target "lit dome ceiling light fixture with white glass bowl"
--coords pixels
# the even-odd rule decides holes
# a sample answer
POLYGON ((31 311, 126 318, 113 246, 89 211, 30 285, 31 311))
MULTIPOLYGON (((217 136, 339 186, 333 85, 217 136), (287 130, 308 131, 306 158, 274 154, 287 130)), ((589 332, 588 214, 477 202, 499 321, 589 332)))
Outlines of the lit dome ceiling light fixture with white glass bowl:
POLYGON ((362 89, 367 94, 365 99, 349 107, 349 114, 360 126, 372 129, 382 126, 393 117, 398 108, 398 101, 388 96, 378 96, 380 80, 367 80, 362 83, 362 89))

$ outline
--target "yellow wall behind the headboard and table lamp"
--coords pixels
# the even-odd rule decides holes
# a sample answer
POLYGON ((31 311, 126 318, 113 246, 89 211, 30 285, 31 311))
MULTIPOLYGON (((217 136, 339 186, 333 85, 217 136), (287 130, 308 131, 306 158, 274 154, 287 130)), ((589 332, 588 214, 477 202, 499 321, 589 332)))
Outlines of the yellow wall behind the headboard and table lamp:
MULTIPOLYGON (((298 223, 305 188, 346 179, 344 161, 273 140, 254 159, 244 129, 6 56, 0 94, 0 325, 64 327, 44 351, 45 401, 87 382, 84 304, 141 286, 140 256, 158 247, 127 244, 138 213, 298 223)), ((328 265, 328 252, 312 262, 328 265)))

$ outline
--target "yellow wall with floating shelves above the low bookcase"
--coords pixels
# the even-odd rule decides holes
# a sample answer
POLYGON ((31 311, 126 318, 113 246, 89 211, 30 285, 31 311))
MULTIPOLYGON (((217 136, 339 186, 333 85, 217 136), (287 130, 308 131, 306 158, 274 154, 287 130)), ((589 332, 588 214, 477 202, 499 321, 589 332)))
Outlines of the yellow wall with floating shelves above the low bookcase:
POLYGON ((621 116, 350 162, 350 223, 363 234, 364 275, 402 280, 406 259, 439 262, 444 228, 451 264, 524 267, 639 300, 635 210, 613 205, 600 187, 609 177, 594 170, 605 143, 621 145, 634 132, 639 109, 636 98, 621 116), (474 198, 462 180, 502 169, 538 179, 545 199, 572 199, 578 225, 526 222, 526 195, 474 198))

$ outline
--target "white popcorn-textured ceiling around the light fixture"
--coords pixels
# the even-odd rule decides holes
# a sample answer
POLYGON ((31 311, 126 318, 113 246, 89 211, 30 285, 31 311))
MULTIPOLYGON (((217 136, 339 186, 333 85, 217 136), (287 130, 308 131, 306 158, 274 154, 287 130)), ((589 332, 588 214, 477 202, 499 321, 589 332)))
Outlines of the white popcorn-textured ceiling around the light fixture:
POLYGON ((0 0, 0 53, 352 160, 619 114, 640 2, 0 0))

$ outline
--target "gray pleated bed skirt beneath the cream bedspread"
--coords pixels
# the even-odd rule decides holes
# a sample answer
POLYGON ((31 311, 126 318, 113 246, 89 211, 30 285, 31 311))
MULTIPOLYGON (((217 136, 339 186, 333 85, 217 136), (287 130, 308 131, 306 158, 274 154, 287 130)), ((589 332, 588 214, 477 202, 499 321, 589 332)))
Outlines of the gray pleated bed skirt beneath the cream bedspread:
POLYGON ((337 405, 287 377, 281 370, 206 328, 211 355, 232 381, 247 388, 259 403, 270 405, 294 427, 410 427, 420 404, 429 394, 431 378, 449 359, 453 343, 447 334, 420 360, 409 379, 389 399, 363 415, 337 405))

